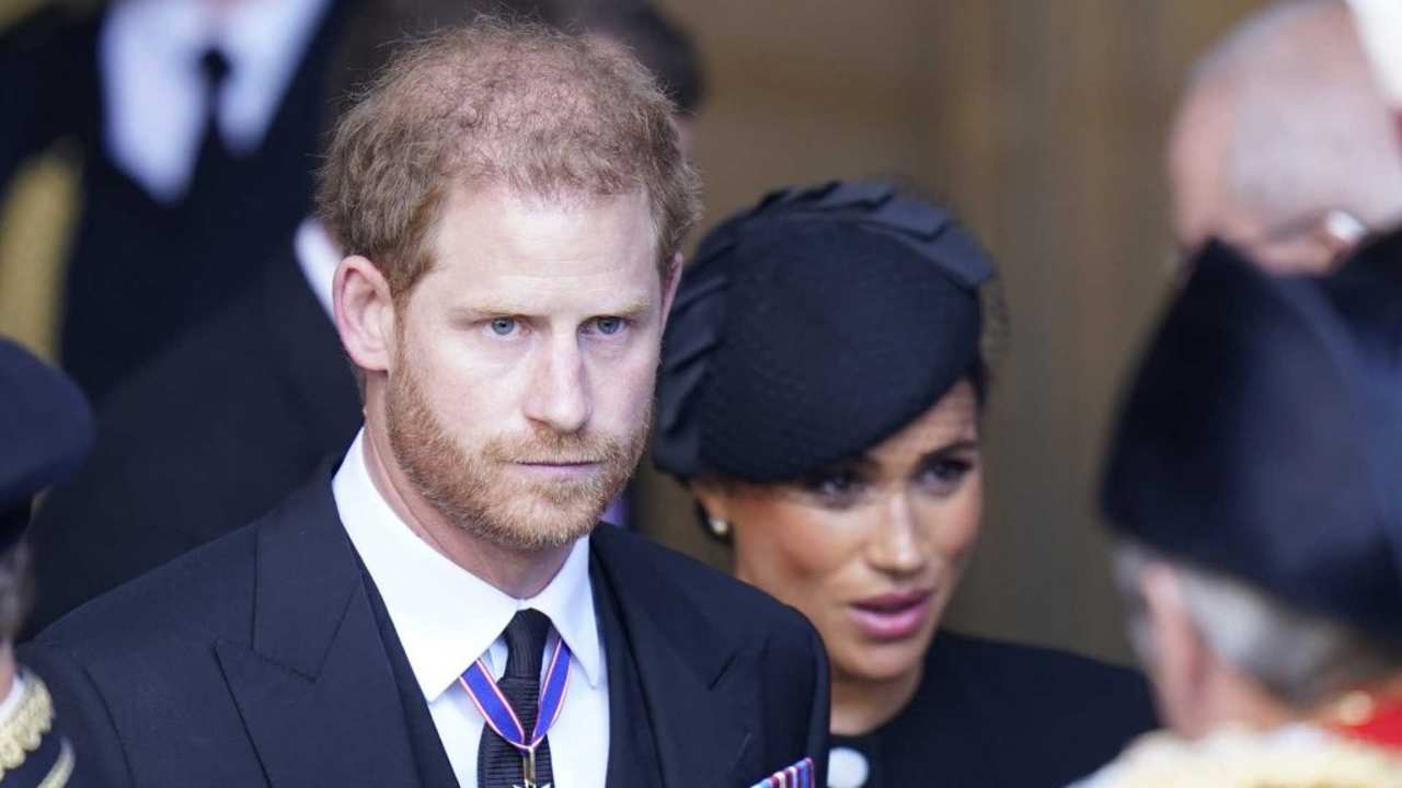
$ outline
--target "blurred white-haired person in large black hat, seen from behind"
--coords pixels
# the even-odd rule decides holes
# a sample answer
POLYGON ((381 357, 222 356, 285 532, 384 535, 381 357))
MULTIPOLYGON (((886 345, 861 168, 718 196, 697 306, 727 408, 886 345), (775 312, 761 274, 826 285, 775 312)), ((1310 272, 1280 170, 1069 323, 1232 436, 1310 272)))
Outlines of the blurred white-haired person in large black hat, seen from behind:
POLYGON ((1325 279, 1209 245, 1103 510, 1169 729, 1087 788, 1402 785, 1402 236, 1325 279))

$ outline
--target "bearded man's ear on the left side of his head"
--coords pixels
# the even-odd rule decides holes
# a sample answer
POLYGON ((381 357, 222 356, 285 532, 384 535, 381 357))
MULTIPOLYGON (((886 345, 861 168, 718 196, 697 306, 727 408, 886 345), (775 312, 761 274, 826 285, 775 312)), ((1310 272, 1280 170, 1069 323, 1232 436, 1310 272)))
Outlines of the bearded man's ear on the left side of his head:
POLYGON ((397 325, 390 283, 380 269, 359 255, 342 259, 331 297, 350 360, 365 372, 387 372, 394 362, 397 325))

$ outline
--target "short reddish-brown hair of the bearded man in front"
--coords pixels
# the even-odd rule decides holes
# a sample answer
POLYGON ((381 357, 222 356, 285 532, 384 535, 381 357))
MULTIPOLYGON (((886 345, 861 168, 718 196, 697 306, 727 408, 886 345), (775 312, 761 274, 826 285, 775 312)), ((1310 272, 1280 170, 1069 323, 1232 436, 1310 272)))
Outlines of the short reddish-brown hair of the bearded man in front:
POLYGON ((644 191, 666 271, 695 224, 700 179, 652 74, 596 36, 479 18, 401 48, 336 126, 318 213, 394 297, 432 265, 458 189, 547 199, 644 191))

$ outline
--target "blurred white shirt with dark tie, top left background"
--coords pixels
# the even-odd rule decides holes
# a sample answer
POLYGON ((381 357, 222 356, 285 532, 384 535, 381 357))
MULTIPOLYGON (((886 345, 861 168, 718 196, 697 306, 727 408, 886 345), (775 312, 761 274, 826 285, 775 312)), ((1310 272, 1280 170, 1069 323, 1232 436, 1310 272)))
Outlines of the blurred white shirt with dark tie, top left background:
POLYGON ((282 104, 329 0, 121 0, 98 38, 104 142, 116 165, 161 202, 185 195, 205 126, 200 56, 219 48, 231 70, 219 132, 250 153, 282 104))

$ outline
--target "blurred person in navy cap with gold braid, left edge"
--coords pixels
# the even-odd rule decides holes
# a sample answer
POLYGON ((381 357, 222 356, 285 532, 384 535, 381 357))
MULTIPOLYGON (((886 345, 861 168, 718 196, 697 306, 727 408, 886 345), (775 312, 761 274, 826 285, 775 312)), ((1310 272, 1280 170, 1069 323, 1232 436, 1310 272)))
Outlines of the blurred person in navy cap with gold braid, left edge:
POLYGON ((81 770, 74 773, 48 687, 14 656, 32 587, 22 537, 34 498, 77 467, 93 435, 93 415, 77 386, 0 338, 0 784, 6 788, 101 785, 86 781, 81 770))

